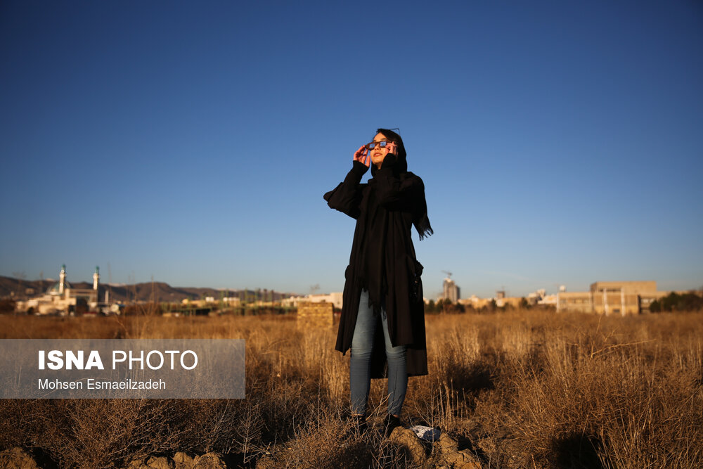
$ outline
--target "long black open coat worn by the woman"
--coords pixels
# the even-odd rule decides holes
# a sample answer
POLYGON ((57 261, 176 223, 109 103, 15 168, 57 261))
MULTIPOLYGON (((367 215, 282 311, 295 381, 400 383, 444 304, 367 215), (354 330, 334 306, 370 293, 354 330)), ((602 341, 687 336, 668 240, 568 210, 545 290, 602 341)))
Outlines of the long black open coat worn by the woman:
MULTIPOLYGON (((361 184, 367 167, 355 161, 344 181, 325 193, 328 205, 356 219, 349 266, 344 272, 342 316, 335 349, 345 354, 352 347, 361 290, 369 290, 370 302, 385 308, 389 336, 394 347, 406 345, 408 376, 427 374, 425 303, 420 280, 423 266, 417 262, 411 239, 413 224, 420 239, 432 233, 427 219, 423 180, 406 171, 404 160, 386 156, 373 178, 361 184)), ((371 377, 386 375, 386 356, 380 315, 373 340, 371 377)))

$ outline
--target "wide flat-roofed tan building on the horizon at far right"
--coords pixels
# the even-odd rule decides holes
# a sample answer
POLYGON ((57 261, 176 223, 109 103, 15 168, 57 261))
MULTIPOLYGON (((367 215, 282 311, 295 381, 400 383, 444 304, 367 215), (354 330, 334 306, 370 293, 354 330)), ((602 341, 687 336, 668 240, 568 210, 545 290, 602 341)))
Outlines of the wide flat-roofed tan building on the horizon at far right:
POLYGON ((560 292, 557 311, 596 314, 640 314, 669 292, 657 291, 655 281, 595 282, 588 292, 560 292))

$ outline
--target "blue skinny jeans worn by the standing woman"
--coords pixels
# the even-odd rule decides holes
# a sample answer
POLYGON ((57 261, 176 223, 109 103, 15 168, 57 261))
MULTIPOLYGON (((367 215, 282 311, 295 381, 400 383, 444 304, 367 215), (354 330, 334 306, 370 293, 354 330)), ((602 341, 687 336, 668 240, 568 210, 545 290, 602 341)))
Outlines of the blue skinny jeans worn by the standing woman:
MULTIPOLYGON (((386 344, 388 360, 388 413, 399 416, 405 394, 408 390, 408 373, 405 364, 405 345, 392 347, 388 335, 388 321, 385 309, 381 310, 383 337, 386 344)), ((352 413, 366 415, 368 390, 371 385, 371 352, 373 336, 376 331, 377 318, 373 308, 368 305, 368 292, 361 290, 359 314, 356 316, 354 338, 352 338, 352 357, 349 364, 349 391, 352 400, 352 413)))

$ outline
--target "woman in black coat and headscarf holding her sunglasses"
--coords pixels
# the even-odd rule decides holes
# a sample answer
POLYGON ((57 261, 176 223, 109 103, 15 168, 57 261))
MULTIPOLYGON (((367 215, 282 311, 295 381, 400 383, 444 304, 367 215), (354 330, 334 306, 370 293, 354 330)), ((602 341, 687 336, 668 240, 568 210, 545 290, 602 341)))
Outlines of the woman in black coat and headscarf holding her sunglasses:
POLYGON ((335 346, 342 354, 352 349, 352 416, 366 430, 370 378, 387 374, 389 435, 400 424, 408 376, 427 374, 423 266, 415 258, 411 227, 422 240, 432 226, 425 186, 408 172, 403 139, 389 129, 377 132, 356 150, 352 170, 325 200, 356 219, 335 346), (369 167, 372 179, 361 184, 369 167))

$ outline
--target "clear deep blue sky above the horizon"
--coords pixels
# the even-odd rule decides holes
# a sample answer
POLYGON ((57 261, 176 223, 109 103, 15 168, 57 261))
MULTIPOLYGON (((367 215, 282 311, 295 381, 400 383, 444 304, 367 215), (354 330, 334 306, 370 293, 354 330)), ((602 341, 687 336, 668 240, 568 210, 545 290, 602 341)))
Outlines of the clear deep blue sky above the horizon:
POLYGON ((399 127, 425 295, 703 285, 700 1, 2 1, 0 274, 341 291, 399 127))

